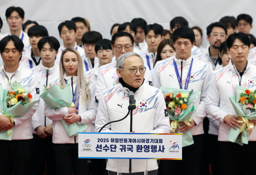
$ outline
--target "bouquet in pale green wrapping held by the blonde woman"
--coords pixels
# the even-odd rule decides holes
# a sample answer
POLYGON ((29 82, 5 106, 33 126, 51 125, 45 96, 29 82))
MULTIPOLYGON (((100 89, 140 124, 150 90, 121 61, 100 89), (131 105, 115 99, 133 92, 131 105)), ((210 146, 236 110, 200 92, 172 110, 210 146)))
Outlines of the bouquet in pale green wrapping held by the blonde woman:
MULTIPOLYGON (((39 96, 44 99, 44 102, 48 104, 48 106, 54 109, 70 106, 76 108, 74 102, 72 102, 73 94, 68 84, 64 89, 56 84, 50 84, 42 90, 39 96)), ((61 120, 61 122, 64 125, 68 137, 76 136, 78 132, 83 132, 88 127, 86 124, 78 124, 77 122, 70 125, 66 124, 64 120, 61 120)))

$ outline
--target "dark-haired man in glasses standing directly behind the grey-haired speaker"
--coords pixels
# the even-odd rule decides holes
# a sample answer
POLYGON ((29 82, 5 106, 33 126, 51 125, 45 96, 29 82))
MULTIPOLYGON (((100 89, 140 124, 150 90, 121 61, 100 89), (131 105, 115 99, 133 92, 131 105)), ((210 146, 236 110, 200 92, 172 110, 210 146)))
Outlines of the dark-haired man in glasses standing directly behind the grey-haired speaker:
MULTIPOLYGON (((112 43, 112 49, 114 51, 114 55, 116 56, 116 58, 118 58, 123 53, 133 51, 134 38, 130 33, 120 31, 113 35, 111 43, 112 43)), ((147 68, 144 76, 145 83, 152 85, 152 78, 150 75, 149 68, 146 65, 144 65, 144 67, 147 68)), ((101 66, 99 69, 98 78, 97 78, 96 98, 98 100, 101 99, 100 96, 102 95, 103 90, 113 87, 117 83, 118 83, 118 76, 116 74, 116 62, 101 66)))

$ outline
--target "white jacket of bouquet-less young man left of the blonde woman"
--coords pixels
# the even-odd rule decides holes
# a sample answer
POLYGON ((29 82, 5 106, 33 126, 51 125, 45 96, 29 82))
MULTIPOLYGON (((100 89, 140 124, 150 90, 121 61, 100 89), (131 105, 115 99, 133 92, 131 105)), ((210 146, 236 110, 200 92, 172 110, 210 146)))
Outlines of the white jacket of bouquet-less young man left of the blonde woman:
MULTIPOLYGON (((50 69, 48 67, 44 67, 42 63, 40 63, 38 66, 31 69, 32 72, 34 72, 37 76, 38 82, 39 82, 39 88, 40 92, 43 90, 44 85, 49 86, 54 84, 60 83, 60 70, 58 65, 54 65, 50 69), (47 81, 47 82, 46 82, 47 81)), ((33 134, 37 134, 36 131, 34 131, 38 126, 46 126, 48 124, 52 124, 52 120, 44 116, 44 100, 40 98, 40 104, 36 110, 36 113, 32 116, 33 120, 33 134)))

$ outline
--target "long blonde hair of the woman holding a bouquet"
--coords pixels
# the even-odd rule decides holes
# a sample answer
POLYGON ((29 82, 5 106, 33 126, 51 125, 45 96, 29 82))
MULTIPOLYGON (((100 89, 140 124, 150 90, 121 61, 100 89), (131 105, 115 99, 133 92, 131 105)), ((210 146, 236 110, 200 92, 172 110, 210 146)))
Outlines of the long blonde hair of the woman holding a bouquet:
POLYGON ((77 56, 77 60, 78 60, 78 67, 77 67, 77 85, 76 85, 76 102, 78 100, 78 95, 81 89, 82 92, 82 102, 86 103, 88 102, 88 100, 90 100, 91 98, 91 91, 89 88, 89 80, 86 79, 86 77, 84 77, 84 71, 83 71, 83 62, 82 62, 82 58, 79 54, 79 52, 72 48, 72 47, 68 47, 66 48, 61 56, 60 56, 60 87, 61 88, 66 88, 66 82, 64 79, 64 73, 66 72, 64 66, 62 65, 63 63, 63 55, 67 52, 74 52, 77 56))

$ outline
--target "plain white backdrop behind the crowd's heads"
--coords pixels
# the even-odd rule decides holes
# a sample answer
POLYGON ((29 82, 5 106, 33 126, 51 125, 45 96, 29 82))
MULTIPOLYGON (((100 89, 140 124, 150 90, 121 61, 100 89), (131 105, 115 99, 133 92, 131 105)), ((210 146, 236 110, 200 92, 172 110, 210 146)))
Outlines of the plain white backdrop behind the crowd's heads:
MULTIPOLYGON (((62 43, 58 25, 73 17, 84 17, 90 22, 91 30, 99 31, 103 38, 111 39, 110 29, 114 23, 130 22, 133 18, 144 18, 148 24, 158 23, 170 28, 170 20, 183 16, 189 27, 203 30, 203 45, 206 27, 223 16, 250 14, 256 20, 256 0, 1 0, 0 16, 3 20, 2 33, 9 30, 5 11, 10 6, 19 6, 25 11, 25 21, 33 20, 48 29, 49 35, 62 43)), ((256 35, 256 23, 251 33, 256 35)))

